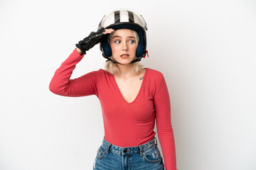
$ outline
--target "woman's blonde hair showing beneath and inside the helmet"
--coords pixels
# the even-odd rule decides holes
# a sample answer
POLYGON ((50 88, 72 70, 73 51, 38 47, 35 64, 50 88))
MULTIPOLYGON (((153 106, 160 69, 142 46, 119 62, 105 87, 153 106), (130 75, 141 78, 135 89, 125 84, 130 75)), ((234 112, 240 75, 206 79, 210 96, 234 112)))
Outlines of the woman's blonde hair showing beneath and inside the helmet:
MULTIPOLYGON (((135 41, 136 41, 136 45, 138 46, 138 42, 139 42, 139 35, 137 34, 136 31, 132 30, 134 33, 134 37, 135 37, 135 41)), ((114 35, 114 31, 109 35, 107 41, 110 43, 111 38, 114 35)), ((113 60, 113 57, 110 57, 111 60, 113 60)), ((132 64, 132 73, 133 74, 139 74, 141 73, 144 69, 144 65, 139 63, 139 62, 133 62, 132 64)), ((117 68, 117 64, 113 63, 112 61, 107 61, 105 64, 105 70, 107 72, 110 72, 111 74, 119 74, 119 69, 117 68)))

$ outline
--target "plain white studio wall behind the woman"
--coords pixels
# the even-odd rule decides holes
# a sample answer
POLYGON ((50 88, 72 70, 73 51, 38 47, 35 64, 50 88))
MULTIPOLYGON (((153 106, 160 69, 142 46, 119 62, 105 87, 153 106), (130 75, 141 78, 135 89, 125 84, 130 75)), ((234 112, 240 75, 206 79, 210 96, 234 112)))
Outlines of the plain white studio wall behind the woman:
MULTIPOLYGON (((149 28, 145 67, 164 74, 180 170, 256 169, 256 2, 0 1, 0 169, 92 169, 104 131, 96 96, 48 85, 102 17, 131 8, 149 28)), ((73 76, 104 68, 99 46, 73 76)))

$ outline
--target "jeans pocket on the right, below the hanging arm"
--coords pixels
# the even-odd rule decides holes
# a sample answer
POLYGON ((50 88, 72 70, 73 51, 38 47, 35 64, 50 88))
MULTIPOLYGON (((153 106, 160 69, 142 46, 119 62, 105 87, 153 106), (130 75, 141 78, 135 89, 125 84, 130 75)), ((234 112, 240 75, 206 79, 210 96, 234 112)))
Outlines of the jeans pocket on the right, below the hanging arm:
POLYGON ((151 149, 146 150, 146 152, 143 153, 143 158, 146 160, 146 162, 150 162, 150 163, 161 162, 162 160, 161 154, 156 145, 151 149))

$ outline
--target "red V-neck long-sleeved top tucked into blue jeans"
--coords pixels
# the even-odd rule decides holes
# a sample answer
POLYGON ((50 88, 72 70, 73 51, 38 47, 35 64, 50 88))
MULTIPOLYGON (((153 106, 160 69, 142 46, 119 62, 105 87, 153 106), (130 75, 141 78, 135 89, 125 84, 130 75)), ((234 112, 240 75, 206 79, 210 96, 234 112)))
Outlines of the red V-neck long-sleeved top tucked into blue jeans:
POLYGON ((145 68, 139 94, 131 103, 124 100, 114 75, 99 69, 77 79, 70 79, 75 65, 82 60, 73 50, 55 71, 49 89, 61 96, 96 95, 102 107, 105 140, 119 147, 144 145, 153 139, 154 125, 167 170, 176 170, 174 132, 171 126, 169 92, 163 74, 145 68))

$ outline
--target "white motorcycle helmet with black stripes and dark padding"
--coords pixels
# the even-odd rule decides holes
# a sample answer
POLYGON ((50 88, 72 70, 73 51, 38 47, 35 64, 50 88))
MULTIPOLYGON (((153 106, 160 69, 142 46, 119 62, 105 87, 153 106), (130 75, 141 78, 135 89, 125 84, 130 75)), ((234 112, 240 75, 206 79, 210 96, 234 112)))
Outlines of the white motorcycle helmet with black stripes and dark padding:
MULTIPOLYGON (((136 50, 136 59, 132 62, 139 62, 142 57, 146 56, 146 21, 144 18, 135 13, 134 11, 127 9, 115 10, 102 18, 97 30, 112 28, 114 30, 118 29, 130 29, 137 32, 139 35, 139 42, 136 50)), ((102 41, 100 42, 100 50, 102 51, 103 57, 107 58, 107 61, 111 60, 112 50, 109 42, 107 41, 110 34, 104 35, 102 41)), ((131 62, 131 63, 132 63, 131 62)), ((114 62, 115 63, 115 62, 114 62)))

